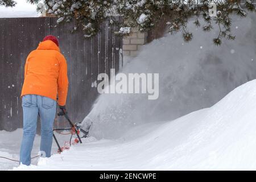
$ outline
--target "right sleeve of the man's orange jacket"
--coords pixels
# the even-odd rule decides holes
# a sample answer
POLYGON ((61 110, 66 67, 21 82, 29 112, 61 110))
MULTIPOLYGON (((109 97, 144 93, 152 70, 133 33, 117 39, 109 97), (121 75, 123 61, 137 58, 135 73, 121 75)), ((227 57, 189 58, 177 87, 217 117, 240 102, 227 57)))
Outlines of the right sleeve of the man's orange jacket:
POLYGON ((68 67, 67 61, 63 55, 59 56, 59 77, 57 79, 58 85, 58 104, 64 106, 66 104, 68 95, 68 67))

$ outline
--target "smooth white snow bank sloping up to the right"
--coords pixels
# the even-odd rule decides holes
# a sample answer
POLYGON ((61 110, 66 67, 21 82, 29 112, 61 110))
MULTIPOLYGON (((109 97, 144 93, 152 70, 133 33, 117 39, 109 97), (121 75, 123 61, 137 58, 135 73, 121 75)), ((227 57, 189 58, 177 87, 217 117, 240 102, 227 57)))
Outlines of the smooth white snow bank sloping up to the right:
MULTIPOLYGON (((137 126, 121 139, 100 140, 15 169, 256 169, 256 80, 209 109, 175 121, 137 126)), ((86 143, 87 142, 87 143, 86 143)))

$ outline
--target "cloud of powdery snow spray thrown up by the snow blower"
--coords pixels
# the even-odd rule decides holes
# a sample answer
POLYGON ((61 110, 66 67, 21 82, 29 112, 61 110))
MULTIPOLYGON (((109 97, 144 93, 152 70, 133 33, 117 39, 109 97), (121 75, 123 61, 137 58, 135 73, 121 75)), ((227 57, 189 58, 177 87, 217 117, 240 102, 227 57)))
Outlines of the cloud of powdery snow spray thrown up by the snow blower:
POLYGON ((123 73, 159 73, 159 98, 147 94, 102 94, 84 125, 90 120, 90 136, 118 138, 131 127, 151 121, 171 120, 210 107, 237 86, 256 78, 256 15, 234 16, 233 42, 216 47, 216 31, 203 32, 193 23, 190 43, 181 35, 167 35, 143 47, 123 73), (215 35, 213 35, 215 34, 215 35), (88 119, 90 118, 90 119, 88 119))

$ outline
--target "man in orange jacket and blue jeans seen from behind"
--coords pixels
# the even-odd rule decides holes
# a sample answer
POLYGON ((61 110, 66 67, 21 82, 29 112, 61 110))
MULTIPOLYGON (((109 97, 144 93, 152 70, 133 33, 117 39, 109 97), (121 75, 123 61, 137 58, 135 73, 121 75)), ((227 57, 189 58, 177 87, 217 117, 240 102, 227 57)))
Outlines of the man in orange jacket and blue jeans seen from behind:
POLYGON ((20 163, 31 164, 31 150, 36 134, 38 114, 41 119, 40 151, 51 156, 52 129, 56 114, 56 100, 65 113, 68 93, 67 62, 61 54, 55 36, 48 35, 26 60, 22 87, 23 139, 20 163))

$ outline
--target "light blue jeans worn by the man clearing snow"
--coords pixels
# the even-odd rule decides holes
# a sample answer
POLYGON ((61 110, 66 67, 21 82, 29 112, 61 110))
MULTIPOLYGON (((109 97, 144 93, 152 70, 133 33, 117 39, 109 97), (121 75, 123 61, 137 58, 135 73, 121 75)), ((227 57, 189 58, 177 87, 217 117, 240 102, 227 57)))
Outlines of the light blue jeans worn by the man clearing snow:
POLYGON ((56 101, 48 97, 28 94, 22 97, 23 139, 20 147, 20 163, 29 166, 31 151, 36 134, 38 114, 41 119, 40 151, 45 157, 51 156, 53 121, 56 114, 56 101))

